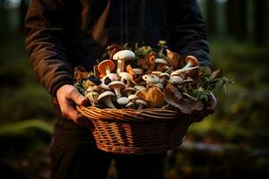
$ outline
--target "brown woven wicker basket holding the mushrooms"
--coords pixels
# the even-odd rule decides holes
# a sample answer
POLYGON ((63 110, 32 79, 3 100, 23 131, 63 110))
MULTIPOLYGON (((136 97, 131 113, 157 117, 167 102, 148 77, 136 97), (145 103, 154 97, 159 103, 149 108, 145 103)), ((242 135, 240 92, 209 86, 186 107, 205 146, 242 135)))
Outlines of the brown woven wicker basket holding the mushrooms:
POLYGON ((91 132, 98 148, 117 154, 159 153, 175 149, 184 141, 191 124, 187 115, 161 108, 77 109, 94 124, 91 132))

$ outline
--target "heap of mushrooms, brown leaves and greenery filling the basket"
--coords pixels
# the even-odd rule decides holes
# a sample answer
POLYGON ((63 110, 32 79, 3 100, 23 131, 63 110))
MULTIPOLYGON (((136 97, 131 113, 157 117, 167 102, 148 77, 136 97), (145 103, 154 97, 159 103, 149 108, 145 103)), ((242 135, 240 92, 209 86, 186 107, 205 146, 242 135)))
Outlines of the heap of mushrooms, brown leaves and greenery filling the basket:
POLYGON ((74 70, 75 86, 81 85, 91 107, 176 107, 186 114, 203 110, 203 102, 188 93, 197 87, 195 82, 201 76, 195 56, 184 58, 164 46, 156 51, 119 45, 108 47, 104 56, 87 75, 82 67, 74 70))

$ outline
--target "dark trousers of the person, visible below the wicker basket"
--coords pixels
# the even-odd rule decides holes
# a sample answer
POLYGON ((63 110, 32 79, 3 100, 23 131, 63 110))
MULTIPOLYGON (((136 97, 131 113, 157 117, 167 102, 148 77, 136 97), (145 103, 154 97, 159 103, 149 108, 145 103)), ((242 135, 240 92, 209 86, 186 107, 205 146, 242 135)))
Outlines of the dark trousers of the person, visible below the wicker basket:
POLYGON ((118 179, 163 179, 165 154, 111 155, 99 149, 51 149, 52 179, 105 179, 115 159, 118 179))

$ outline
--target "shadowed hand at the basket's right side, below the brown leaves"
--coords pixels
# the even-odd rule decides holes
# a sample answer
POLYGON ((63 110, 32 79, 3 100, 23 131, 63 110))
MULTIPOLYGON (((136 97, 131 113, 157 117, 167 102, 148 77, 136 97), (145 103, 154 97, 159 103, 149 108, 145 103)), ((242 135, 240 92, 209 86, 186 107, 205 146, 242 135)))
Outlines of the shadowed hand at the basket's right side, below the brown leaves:
POLYGON ((215 98, 215 96, 211 92, 210 96, 208 98, 208 101, 204 105, 204 111, 201 113, 193 114, 191 117, 192 121, 193 122, 201 122, 204 119, 204 117, 206 117, 207 115, 213 115, 213 113, 215 112, 216 106, 217 106, 217 99, 215 98))

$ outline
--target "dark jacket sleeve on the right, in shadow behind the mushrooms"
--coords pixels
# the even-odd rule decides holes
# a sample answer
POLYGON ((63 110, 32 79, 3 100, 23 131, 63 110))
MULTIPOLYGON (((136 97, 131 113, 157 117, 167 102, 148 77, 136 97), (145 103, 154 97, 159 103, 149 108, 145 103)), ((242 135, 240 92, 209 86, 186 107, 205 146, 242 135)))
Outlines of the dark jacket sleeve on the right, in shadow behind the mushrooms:
POLYGON ((204 19, 196 0, 175 0, 169 10, 170 43, 180 55, 194 55, 211 66, 204 19))

